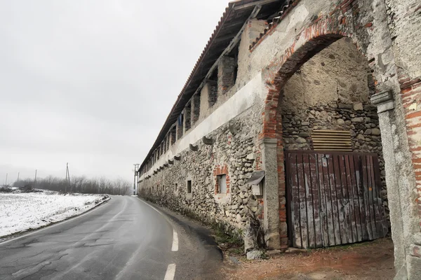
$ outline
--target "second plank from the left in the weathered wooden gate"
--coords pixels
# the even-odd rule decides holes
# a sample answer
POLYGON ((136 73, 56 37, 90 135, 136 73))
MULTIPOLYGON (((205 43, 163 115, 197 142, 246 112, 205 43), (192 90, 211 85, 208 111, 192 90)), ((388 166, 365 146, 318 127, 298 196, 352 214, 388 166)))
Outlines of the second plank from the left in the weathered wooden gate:
POLYGON ((298 177, 298 199, 300 204, 300 226, 302 248, 308 248, 309 235, 307 218, 307 194, 304 179, 304 161, 305 154, 297 155, 297 177, 298 177))

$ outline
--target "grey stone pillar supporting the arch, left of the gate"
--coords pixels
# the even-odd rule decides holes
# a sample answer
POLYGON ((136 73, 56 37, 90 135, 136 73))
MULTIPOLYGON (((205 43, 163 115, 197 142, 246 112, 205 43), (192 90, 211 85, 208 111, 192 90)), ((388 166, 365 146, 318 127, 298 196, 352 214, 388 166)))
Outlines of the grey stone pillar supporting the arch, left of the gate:
POLYGON ((259 144, 260 151, 262 151, 262 169, 265 170, 265 183, 263 186, 265 239, 269 250, 275 250, 281 248, 279 237, 277 140, 264 138, 260 140, 259 144))

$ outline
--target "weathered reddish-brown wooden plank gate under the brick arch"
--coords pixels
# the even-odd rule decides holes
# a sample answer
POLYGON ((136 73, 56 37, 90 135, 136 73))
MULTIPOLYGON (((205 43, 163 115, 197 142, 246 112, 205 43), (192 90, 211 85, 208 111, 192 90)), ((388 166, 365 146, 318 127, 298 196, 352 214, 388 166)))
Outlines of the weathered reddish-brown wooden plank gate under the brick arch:
POLYGON ((293 246, 318 248, 387 235, 374 153, 286 151, 293 246))

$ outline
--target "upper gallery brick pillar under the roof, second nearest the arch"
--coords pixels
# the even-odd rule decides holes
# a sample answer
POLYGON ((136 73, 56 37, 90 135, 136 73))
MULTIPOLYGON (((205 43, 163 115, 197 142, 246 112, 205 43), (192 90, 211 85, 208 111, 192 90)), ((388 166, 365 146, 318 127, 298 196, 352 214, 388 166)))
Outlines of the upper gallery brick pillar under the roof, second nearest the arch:
POLYGON ((218 64, 218 95, 225 94, 235 83, 236 59, 222 57, 218 64))

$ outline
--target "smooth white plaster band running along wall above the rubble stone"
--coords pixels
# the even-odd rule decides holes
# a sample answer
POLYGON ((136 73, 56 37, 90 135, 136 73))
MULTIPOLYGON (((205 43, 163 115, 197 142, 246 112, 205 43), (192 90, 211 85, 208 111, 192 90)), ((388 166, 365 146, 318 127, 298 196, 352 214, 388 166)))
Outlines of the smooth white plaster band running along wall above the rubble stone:
POLYGON ((249 109, 255 104, 256 98, 264 98, 262 96, 262 75, 260 72, 255 78, 241 87, 241 89, 230 97, 227 102, 213 111, 208 118, 204 119, 199 125, 194 127, 192 131, 171 146, 170 150, 168 150, 165 155, 162 155, 152 168, 140 177, 140 180, 144 179, 145 176, 152 176, 155 169, 161 167, 167 160, 171 160, 174 155, 178 155, 182 151, 185 151, 185 149, 189 148, 189 144, 196 143, 202 139, 202 137, 217 130, 218 127, 225 125, 229 120, 232 120, 249 109))

